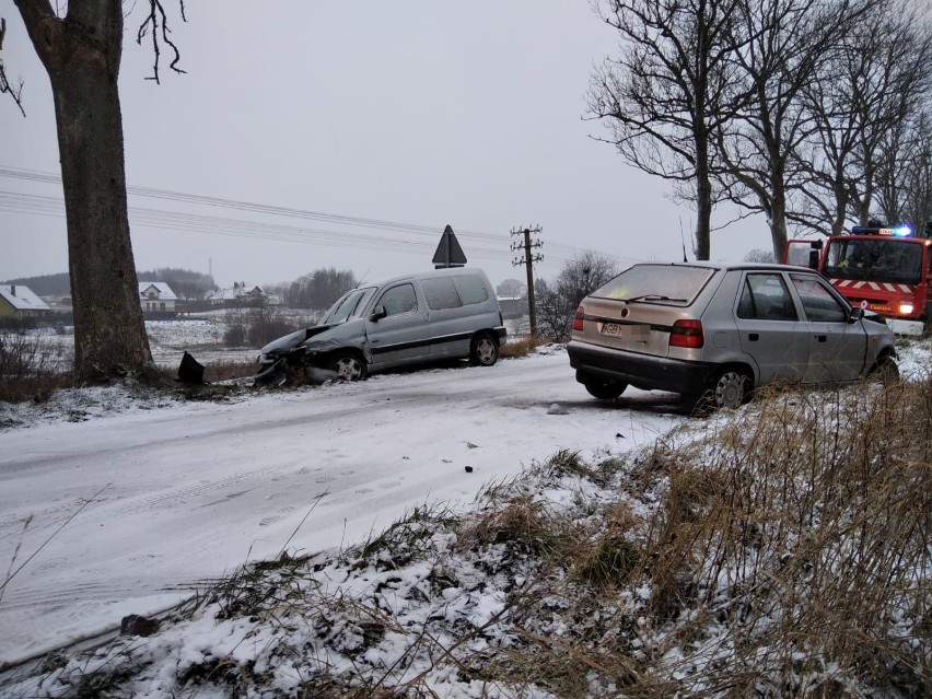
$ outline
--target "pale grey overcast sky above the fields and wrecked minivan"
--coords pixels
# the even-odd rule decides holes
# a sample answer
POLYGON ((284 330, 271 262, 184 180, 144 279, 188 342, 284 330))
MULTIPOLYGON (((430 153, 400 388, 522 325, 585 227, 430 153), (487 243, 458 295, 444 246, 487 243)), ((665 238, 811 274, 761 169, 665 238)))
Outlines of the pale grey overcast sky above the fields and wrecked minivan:
MULTIPOLYGON (((171 15, 187 73, 163 53, 161 85, 135 42, 144 4, 120 72, 139 270, 212 272, 221 287, 321 267, 374 280, 430 268, 446 224, 497 284, 525 278, 510 251, 521 226, 543 229, 545 279, 584 249, 620 267, 681 259, 684 234, 691 249, 692 211, 590 138, 605 131, 584 119, 589 78, 616 36, 587 0, 187 3, 187 24, 171 15)), ((48 78, 10 0, 0 16, 27 114, 2 95, 7 280, 68 259, 48 78)), ((769 247, 752 219, 714 233, 712 257, 769 247)))

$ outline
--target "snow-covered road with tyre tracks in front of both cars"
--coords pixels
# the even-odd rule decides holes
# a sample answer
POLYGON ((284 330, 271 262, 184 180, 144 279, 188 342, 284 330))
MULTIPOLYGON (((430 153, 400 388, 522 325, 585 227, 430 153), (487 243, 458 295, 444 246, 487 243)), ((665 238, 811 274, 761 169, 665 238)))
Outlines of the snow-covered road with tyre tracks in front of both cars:
POLYGON ((0 667, 168 608, 246 560, 357 543, 426 502, 467 505, 560 448, 650 443, 683 420, 671 405, 590 398, 558 348, 0 432, 13 574, 0 667))

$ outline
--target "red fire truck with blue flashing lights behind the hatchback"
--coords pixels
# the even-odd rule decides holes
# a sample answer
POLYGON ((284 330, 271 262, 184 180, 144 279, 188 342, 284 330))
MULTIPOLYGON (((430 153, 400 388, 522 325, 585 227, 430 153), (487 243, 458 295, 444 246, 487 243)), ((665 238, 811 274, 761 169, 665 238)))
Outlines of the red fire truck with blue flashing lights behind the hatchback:
POLYGON ((851 305, 887 317, 894 333, 932 327, 932 240, 908 228, 854 226, 846 235, 790 241, 783 261, 817 269, 851 305))

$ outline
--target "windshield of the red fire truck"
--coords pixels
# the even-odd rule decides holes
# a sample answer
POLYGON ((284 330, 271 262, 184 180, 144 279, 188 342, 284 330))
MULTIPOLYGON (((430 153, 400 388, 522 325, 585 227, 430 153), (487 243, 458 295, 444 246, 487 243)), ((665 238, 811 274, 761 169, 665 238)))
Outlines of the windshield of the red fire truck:
POLYGON ((919 243, 852 236, 829 243, 823 273, 836 279, 917 284, 921 270, 919 243))

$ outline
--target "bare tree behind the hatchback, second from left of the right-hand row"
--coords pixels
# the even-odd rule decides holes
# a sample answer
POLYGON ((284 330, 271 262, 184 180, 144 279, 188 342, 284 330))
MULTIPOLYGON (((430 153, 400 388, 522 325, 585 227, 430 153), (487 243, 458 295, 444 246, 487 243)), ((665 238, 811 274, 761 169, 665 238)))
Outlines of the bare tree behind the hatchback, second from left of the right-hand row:
POLYGON ((805 224, 793 198, 811 185, 800 153, 818 125, 804 108, 804 90, 818 68, 876 0, 743 0, 733 28, 735 66, 752 95, 736 119, 717 132, 717 173, 729 198, 767 217, 773 256, 787 246, 790 223, 805 224))

